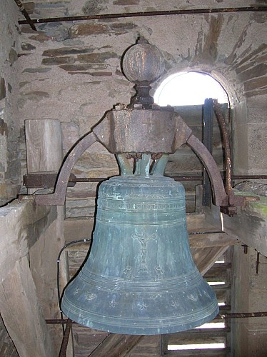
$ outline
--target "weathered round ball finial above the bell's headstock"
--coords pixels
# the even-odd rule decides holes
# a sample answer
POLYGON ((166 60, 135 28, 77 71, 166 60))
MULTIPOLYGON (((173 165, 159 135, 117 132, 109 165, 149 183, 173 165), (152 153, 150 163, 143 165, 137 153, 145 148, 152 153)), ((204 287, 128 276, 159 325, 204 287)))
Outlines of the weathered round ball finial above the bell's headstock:
POLYGON ((140 37, 124 54, 122 69, 129 81, 150 84, 163 74, 165 64, 161 51, 140 37))

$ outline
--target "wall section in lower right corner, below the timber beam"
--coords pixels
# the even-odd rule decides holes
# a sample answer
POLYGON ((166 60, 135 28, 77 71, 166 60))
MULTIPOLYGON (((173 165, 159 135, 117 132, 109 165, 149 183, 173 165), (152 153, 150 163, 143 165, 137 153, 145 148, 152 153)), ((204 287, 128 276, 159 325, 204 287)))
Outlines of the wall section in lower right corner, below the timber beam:
MULTIPOLYGON (((233 254, 233 311, 266 311, 266 256, 259 256, 256 271, 257 251, 248 248, 245 254, 241 246, 234 247, 233 254), (246 291, 246 293, 244 293, 246 291)), ((231 321, 233 333, 233 356, 266 356, 266 318, 235 318, 231 321)))

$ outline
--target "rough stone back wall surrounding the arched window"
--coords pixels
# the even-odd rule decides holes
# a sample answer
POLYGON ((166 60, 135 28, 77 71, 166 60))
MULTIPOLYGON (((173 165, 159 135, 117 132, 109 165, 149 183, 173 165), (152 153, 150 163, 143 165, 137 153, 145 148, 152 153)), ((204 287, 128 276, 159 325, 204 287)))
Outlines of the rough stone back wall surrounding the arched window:
MULTIPOLYGON (((186 1, 168 1, 168 4, 145 0, 35 1, 35 5, 29 4, 29 9, 33 18, 41 18, 233 6, 233 1, 217 2, 192 5, 186 1)), ((251 1, 238 1, 238 6, 250 5, 251 1)), ((121 73, 121 56, 141 34, 161 49, 166 60, 161 81, 178 71, 203 71, 221 82, 233 108, 245 103, 246 116, 241 117, 241 123, 236 121, 235 126, 236 167, 242 173, 263 173, 262 155, 257 160, 253 158, 261 153, 266 142, 264 134, 258 133, 260 125, 266 124, 260 124, 254 110, 258 108, 263 117, 264 16, 245 12, 68 21, 37 24, 38 31, 32 31, 28 25, 21 26, 18 105, 21 130, 25 119, 59 119, 66 154, 114 104, 129 103, 133 89, 121 73), (251 125, 253 120, 256 126, 251 125), (244 126, 245 132, 251 133, 246 134, 246 141, 243 141, 244 126), (250 159, 244 161, 243 156, 250 159)), ((158 85, 159 81, 153 90, 158 85)), ((107 177, 117 173, 114 156, 100 144, 94 144, 74 169, 79 177, 107 177)), ((94 211, 95 189, 96 184, 92 183, 70 188, 67 212, 79 216, 81 210, 94 211)))

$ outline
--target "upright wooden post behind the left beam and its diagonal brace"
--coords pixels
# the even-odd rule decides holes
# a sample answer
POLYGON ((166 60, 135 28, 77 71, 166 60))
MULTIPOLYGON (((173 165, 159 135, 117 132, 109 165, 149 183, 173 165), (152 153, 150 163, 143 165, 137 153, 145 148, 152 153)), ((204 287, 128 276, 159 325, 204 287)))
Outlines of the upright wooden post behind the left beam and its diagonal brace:
MULTIPOLYGON (((61 123, 56 119, 30 119, 25 121, 28 173, 59 171, 62 164, 61 123)), ((29 193, 32 193, 32 190, 29 193)), ((57 219, 29 251, 31 273, 45 318, 59 318, 56 263, 60 249, 65 244, 64 207, 57 207, 57 219)), ((61 287, 66 286, 64 255, 60 265, 61 287)), ((61 346, 61 326, 49 326, 57 353, 61 346)), ((70 339, 71 340, 71 339, 70 339)), ((72 353, 70 354, 70 356, 72 353)))

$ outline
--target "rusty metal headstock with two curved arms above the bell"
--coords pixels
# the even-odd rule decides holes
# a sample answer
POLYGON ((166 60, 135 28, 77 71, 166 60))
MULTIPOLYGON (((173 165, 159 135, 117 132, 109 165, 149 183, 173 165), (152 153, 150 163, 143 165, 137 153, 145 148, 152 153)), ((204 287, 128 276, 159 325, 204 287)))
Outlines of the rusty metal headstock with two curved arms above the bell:
POLYGON ((234 196, 231 176, 230 186, 225 188, 213 156, 206 146, 192 134, 183 119, 173 111, 158 106, 153 109, 142 107, 126 109, 126 106, 119 106, 109 111, 93 131, 78 141, 66 156, 59 171, 54 193, 35 195, 36 204, 64 205, 71 171, 81 154, 96 141, 104 145, 112 154, 131 154, 129 157, 138 153, 151 153, 154 156, 157 153, 171 154, 187 143, 208 172, 213 188, 214 204, 223 207, 230 216, 236 213, 235 206, 243 204, 243 197, 234 196))

